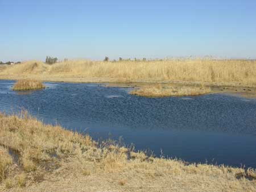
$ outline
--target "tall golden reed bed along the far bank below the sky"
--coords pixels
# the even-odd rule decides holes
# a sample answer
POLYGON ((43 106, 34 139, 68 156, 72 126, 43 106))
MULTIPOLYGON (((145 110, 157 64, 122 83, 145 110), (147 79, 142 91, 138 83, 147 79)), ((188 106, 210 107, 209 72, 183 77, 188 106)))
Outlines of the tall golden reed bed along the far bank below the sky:
POLYGON ((47 65, 40 61, 7 66, 0 78, 76 82, 190 82, 256 86, 255 60, 172 59, 103 62, 71 60, 47 65))

